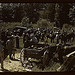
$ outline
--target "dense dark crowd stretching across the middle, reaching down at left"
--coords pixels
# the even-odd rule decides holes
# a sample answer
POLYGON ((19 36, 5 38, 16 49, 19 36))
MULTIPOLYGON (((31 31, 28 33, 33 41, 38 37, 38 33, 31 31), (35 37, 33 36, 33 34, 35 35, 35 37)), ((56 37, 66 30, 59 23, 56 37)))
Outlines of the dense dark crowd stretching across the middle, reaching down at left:
POLYGON ((0 30, 0 57, 1 57, 1 68, 3 68, 4 56, 9 55, 10 59, 15 59, 15 50, 20 47, 19 39, 23 38, 24 48, 30 48, 32 45, 36 45, 38 42, 48 42, 50 43, 66 43, 69 40, 74 40, 74 29, 70 33, 64 30, 52 28, 27 28, 23 29, 7 29, 0 30), (55 40, 56 39, 56 40, 55 40), (16 40, 16 48, 15 48, 16 40))

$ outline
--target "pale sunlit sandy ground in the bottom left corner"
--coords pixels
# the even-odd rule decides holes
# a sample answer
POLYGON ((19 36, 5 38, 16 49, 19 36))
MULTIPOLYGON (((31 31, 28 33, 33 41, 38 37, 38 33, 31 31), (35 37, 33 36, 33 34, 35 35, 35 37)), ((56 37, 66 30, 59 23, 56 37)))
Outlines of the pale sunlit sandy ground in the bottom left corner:
POLYGON ((20 62, 20 53, 16 53, 15 59, 10 60, 9 56, 4 60, 4 70, 2 71, 0 68, 0 72, 22 72, 23 67, 20 62))

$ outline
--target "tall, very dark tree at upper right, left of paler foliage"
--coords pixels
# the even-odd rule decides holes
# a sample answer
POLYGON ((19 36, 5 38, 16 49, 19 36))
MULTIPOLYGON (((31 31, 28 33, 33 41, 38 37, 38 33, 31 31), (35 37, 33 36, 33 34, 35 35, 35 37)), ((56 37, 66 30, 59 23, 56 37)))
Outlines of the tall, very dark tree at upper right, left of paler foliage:
POLYGON ((56 3, 55 5, 55 23, 57 27, 62 28, 64 23, 69 24, 69 9, 71 5, 69 3, 56 3))

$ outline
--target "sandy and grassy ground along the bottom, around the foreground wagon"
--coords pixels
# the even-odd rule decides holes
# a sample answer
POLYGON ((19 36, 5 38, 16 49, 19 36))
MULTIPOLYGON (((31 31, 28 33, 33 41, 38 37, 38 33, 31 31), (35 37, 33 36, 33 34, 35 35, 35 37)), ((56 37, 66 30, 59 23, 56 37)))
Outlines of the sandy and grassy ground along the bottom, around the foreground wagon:
MULTIPOLYGON (((37 62, 38 60, 35 61, 37 62)), ((32 63, 32 72, 54 72, 60 66, 59 63, 50 61, 50 65, 42 70, 37 67, 36 62, 32 63)), ((9 56, 7 56, 4 60, 4 70, 0 68, 0 72, 27 72, 20 62, 20 51, 16 52, 15 60, 10 60, 9 56)))

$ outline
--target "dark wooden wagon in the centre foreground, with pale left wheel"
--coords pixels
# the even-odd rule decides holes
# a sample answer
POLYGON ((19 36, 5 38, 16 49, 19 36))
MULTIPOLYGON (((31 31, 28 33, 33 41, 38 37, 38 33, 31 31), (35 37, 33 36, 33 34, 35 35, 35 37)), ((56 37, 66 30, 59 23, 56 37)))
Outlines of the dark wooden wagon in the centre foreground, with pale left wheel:
POLYGON ((23 48, 21 50, 20 60, 23 64, 25 58, 40 59, 42 65, 45 66, 46 64, 48 64, 50 56, 53 55, 55 50, 56 46, 51 46, 48 44, 38 44, 37 48, 23 48))

